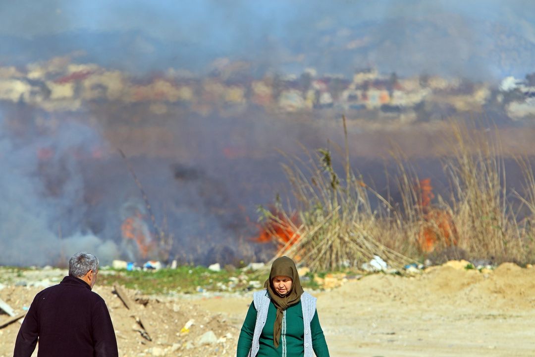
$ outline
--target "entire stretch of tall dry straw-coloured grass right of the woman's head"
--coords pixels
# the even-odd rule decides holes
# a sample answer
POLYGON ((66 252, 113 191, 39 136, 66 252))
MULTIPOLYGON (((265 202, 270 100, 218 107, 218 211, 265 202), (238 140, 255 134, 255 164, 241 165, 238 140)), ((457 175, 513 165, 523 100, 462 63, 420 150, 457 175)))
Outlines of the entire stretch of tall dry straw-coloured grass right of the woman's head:
POLYGON ((328 149, 310 152, 303 148, 305 159, 282 153, 291 199, 277 202, 279 216, 265 210, 263 215, 290 225, 295 237, 276 256, 292 256, 312 270, 360 267, 373 255, 400 268, 452 247, 471 260, 533 262, 533 170, 528 158, 518 159, 525 187, 511 200, 494 131, 452 121, 452 132, 445 136, 451 155, 442 159, 449 192, 445 198, 438 196, 432 207, 425 207, 417 171, 399 150, 392 153, 398 172, 394 177, 385 174, 398 186, 401 202, 393 202, 389 194, 381 196, 364 183, 361 174, 350 168, 345 118, 343 124, 346 142, 345 152, 339 150, 339 165, 333 163, 328 149), (342 174, 335 167, 342 167, 338 170, 342 174), (518 202, 527 212, 522 218, 518 202), (295 216, 297 221, 290 218, 295 216), (422 246, 423 233, 434 240, 432 252, 422 246))

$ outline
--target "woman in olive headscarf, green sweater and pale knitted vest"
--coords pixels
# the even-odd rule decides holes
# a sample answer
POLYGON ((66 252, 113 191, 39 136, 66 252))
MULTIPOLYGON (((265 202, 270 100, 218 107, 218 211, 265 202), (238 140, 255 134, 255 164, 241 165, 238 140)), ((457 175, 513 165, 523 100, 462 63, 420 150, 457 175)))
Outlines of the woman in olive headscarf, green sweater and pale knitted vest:
POLYGON ((264 288, 253 294, 236 356, 329 357, 316 298, 303 291, 293 260, 276 259, 264 288))

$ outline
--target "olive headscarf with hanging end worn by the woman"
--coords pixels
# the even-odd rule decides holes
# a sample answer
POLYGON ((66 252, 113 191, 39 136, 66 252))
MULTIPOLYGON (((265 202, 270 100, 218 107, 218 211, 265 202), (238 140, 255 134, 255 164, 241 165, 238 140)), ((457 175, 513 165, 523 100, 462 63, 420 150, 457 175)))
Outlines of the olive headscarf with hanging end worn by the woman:
POLYGON ((277 308, 277 317, 273 325, 273 344, 277 348, 279 347, 280 333, 282 331, 283 312, 289 306, 299 302, 303 293, 294 261, 287 256, 281 256, 274 260, 271 265, 269 278, 264 283, 264 288, 268 289, 271 301, 273 301, 273 305, 277 308), (288 276, 292 278, 292 288, 284 297, 281 297, 273 287, 273 278, 276 276, 288 276))

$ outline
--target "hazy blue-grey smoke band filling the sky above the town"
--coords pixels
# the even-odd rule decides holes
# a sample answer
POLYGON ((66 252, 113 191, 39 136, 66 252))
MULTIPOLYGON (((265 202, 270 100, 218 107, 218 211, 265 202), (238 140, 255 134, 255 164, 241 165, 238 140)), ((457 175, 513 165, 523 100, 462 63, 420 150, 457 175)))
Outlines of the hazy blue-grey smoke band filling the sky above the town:
POLYGON ((77 50, 134 73, 169 67, 203 72, 219 57, 251 73, 381 72, 469 79, 524 75, 535 54, 529 1, 298 0, 194 3, 3 3, 0 58, 24 64, 77 50), (40 21, 34 21, 38 17, 40 21))

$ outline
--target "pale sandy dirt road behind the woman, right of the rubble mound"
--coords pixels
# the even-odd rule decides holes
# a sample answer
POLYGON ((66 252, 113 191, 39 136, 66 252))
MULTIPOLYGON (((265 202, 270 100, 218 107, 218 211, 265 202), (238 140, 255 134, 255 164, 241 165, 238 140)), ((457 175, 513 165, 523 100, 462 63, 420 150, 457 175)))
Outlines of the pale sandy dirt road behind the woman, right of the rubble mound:
MULTIPOLYGON (((535 269, 442 266, 411 278, 366 276, 315 295, 334 357, 535 355, 535 269)), ((250 299, 198 303, 238 326, 250 299)))

